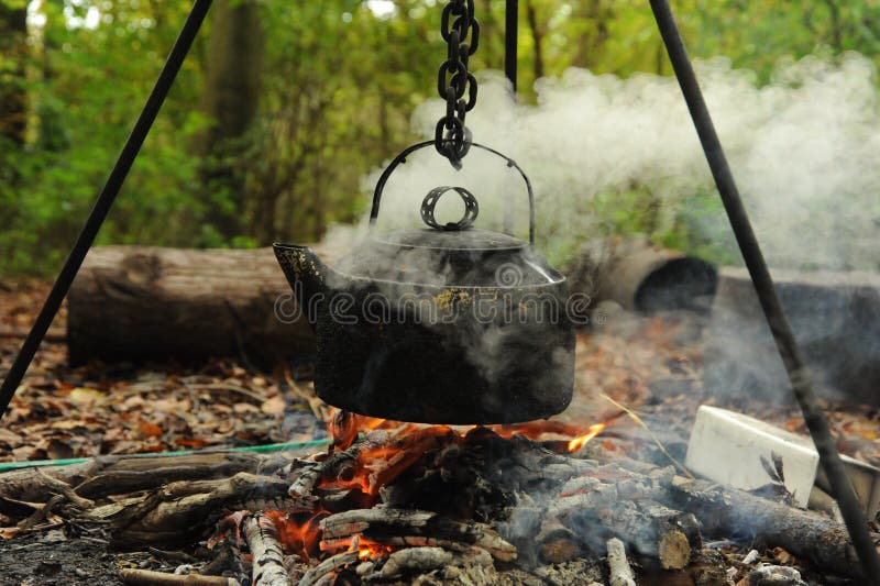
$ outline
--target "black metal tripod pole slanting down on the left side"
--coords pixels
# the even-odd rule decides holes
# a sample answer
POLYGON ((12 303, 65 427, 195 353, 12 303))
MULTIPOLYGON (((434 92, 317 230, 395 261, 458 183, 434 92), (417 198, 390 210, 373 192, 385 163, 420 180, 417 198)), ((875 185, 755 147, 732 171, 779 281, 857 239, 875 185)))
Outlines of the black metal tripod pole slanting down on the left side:
POLYGON ((55 279, 55 285, 53 285, 52 291, 50 291, 46 301, 43 303, 43 309, 40 310, 40 314, 36 317, 36 321, 28 333, 28 338, 24 339, 24 343, 19 351, 19 355, 15 357, 15 362, 9 369, 6 380, 3 380, 3 385, 0 386, 0 418, 6 413, 9 402, 15 395, 15 390, 21 384, 24 373, 28 371, 34 354, 36 354, 36 350, 40 347, 40 343, 46 335, 52 320, 55 319, 55 314, 58 312, 62 301, 70 289, 70 284, 79 272, 80 265, 82 265, 82 259, 95 242, 98 230, 100 230, 105 218, 107 218, 107 213, 113 206, 113 201, 119 195, 119 190, 134 163, 134 158, 141 150, 141 145, 143 145, 150 132, 150 128, 153 125, 153 121, 156 119, 156 114, 162 108, 162 103, 165 101, 165 97, 168 95, 168 90, 174 84, 175 77, 177 77, 177 73, 180 70, 180 66, 187 53, 189 53, 189 47, 193 46, 193 41, 196 38, 196 34, 209 8, 211 8, 211 0, 196 0, 193 4, 189 16, 187 16, 184 27, 180 30, 180 34, 174 43, 172 52, 168 54, 168 58, 165 62, 165 66, 162 68, 156 85, 153 87, 153 91, 150 93, 141 115, 134 123, 134 128, 129 139, 125 141, 122 152, 119 154, 117 164, 110 172, 110 176, 107 178, 107 183, 101 194, 98 196, 95 207, 91 209, 91 212, 89 212, 89 217, 86 219, 86 223, 82 225, 82 230, 79 232, 76 243, 73 250, 70 250, 70 254, 67 256, 67 261, 65 261, 58 274, 58 278, 55 279))

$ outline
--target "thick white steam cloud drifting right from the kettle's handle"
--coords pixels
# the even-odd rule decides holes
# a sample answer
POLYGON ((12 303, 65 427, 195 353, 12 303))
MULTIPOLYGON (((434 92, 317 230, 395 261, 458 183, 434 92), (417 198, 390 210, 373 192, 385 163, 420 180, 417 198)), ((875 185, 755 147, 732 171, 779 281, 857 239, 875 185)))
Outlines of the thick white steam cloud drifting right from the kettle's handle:
MULTIPOLYGON (((772 266, 873 268, 880 225, 880 100, 873 65, 849 53, 783 62, 770 85, 716 58, 696 63, 710 111, 758 239, 772 266)), ((714 192, 693 124, 673 78, 623 79, 569 69, 536 85, 538 104, 516 102, 498 73, 480 85, 468 124, 474 140, 507 154, 535 186, 539 247, 559 252, 607 231, 600 195, 648 189, 669 224, 689 199, 714 192)), ((419 107, 414 128, 432 136, 444 104, 419 107)), ((375 185, 378 172, 365 184, 375 185)), ((393 175, 380 225, 421 225, 421 198, 438 185, 463 185, 480 200, 477 228, 507 220, 527 229, 522 184, 502 159, 472 150, 454 172, 432 148, 411 155, 393 175)), ((450 220, 457 204, 447 196, 450 220)), ((441 200, 441 204, 443 201, 441 200)), ((438 215, 443 213, 438 206, 438 215)), ((702 234, 732 242, 719 211, 691 218, 702 234)))

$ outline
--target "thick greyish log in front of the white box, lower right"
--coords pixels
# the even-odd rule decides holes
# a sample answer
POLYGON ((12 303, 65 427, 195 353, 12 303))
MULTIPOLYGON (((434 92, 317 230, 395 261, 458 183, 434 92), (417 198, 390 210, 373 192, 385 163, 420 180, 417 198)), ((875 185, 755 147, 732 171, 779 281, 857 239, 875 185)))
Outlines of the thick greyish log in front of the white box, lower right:
MULTIPOLYGON (((672 506, 692 511, 707 534, 749 534, 768 545, 843 576, 858 576, 859 564, 846 528, 820 513, 795 509, 707 480, 676 477, 672 506)), ((875 534, 880 551, 880 534, 875 534)))

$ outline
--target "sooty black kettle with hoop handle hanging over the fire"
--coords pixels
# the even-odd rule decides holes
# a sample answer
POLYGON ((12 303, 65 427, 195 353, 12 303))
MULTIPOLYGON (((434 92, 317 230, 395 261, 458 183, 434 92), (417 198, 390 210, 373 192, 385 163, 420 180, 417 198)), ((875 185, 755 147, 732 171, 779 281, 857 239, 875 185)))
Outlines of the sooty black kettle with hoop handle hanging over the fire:
MULTIPOLYGON (((400 153, 373 195, 371 226, 400 153)), ((535 252, 531 184, 529 242, 472 228, 476 198, 438 187, 424 199, 425 229, 378 234, 334 268, 307 246, 275 244, 302 313, 318 336, 315 389, 355 413, 425 423, 513 423, 547 418, 572 398, 574 321, 565 277, 535 252), (440 224, 438 199, 458 194, 459 222, 440 224)), ((575 303, 576 305, 576 303, 575 303)))

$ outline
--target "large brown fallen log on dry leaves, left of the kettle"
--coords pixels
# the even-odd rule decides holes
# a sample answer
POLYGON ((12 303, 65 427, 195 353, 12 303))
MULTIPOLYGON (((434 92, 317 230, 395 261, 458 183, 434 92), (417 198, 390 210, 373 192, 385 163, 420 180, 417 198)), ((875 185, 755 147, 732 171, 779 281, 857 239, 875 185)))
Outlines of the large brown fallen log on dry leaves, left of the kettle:
POLYGON ((272 366, 315 353, 270 248, 105 246, 89 252, 68 295, 72 364, 235 356, 272 366), (286 297, 282 297, 286 296, 286 297))

